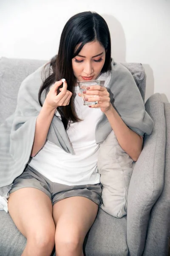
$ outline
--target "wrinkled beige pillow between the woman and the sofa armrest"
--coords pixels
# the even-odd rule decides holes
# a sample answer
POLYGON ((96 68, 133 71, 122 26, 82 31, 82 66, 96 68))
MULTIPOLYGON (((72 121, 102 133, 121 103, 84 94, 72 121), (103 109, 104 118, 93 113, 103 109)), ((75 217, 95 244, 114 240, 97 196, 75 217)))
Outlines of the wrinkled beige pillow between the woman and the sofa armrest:
POLYGON ((133 172, 132 158, 121 148, 114 131, 100 145, 97 167, 102 183, 102 205, 116 218, 127 214, 127 192, 133 172))

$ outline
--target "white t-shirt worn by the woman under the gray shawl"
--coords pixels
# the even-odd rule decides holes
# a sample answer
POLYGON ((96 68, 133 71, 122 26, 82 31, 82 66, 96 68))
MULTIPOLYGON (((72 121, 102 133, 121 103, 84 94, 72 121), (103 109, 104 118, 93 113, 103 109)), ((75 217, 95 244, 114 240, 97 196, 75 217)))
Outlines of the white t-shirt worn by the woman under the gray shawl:
POLYGON ((95 129, 103 113, 100 108, 84 106, 78 92, 79 87, 75 87, 76 112, 82 121, 71 123, 67 130, 75 155, 47 141, 29 163, 52 182, 70 186, 100 182, 97 170, 99 145, 96 144, 95 129))

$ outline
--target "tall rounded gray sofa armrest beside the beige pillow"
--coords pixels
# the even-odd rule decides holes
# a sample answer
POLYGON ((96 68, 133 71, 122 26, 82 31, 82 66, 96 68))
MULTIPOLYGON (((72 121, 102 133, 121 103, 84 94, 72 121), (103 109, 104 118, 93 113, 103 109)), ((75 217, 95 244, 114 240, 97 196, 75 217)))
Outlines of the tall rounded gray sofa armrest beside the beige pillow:
POLYGON ((141 256, 146 241, 150 211, 164 186, 165 117, 161 95, 145 104, 154 122, 152 134, 144 138, 142 153, 135 163, 127 201, 127 244, 130 256, 141 256))

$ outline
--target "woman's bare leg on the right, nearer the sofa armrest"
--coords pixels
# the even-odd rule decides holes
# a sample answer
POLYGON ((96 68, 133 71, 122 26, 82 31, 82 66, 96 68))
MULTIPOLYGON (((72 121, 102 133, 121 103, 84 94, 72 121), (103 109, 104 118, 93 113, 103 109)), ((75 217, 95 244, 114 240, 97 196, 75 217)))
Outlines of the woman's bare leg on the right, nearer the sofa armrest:
POLYGON ((65 198, 54 204, 56 256, 83 256, 83 242, 97 211, 97 204, 80 196, 65 198))

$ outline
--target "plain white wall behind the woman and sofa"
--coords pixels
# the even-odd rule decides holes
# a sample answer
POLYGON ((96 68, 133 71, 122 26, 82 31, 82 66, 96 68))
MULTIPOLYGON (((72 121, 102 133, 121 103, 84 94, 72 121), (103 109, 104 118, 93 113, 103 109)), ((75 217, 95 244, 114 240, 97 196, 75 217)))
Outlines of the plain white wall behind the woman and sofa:
POLYGON ((51 58, 66 21, 88 10, 107 21, 116 61, 144 65, 146 99, 170 102, 170 0, 0 0, 0 56, 51 58))

